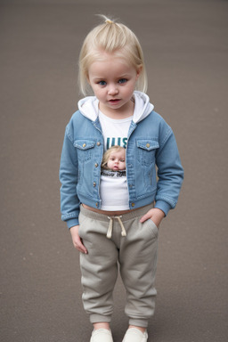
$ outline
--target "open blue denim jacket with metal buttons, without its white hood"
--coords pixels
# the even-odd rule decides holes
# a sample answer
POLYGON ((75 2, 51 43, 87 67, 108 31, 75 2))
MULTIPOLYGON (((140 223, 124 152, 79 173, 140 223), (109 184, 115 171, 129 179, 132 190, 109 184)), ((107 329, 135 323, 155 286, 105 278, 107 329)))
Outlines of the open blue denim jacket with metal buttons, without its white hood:
MULTIPOLYGON (((85 118, 77 110, 66 127, 61 152, 61 219, 69 228, 78 224, 81 203, 101 208, 103 145, 99 118, 85 118)), ((131 122, 126 145, 126 179, 130 209, 153 201, 155 208, 166 215, 175 208, 183 183, 183 167, 171 127, 154 110, 138 123, 131 122)))

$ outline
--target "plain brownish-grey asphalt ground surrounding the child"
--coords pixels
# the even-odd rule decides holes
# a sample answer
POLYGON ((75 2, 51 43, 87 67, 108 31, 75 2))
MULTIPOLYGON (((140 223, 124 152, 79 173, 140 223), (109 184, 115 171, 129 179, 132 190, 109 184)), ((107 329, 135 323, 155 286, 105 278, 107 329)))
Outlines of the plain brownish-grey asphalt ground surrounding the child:
MULTIPOLYGON (((159 230, 149 342, 228 340, 227 33, 223 0, 1 1, 1 336, 85 342, 78 266, 61 222, 64 129, 80 98, 77 57, 97 13, 139 37, 155 109, 175 131, 185 179, 159 230)), ((115 289, 111 328, 127 328, 115 289)))

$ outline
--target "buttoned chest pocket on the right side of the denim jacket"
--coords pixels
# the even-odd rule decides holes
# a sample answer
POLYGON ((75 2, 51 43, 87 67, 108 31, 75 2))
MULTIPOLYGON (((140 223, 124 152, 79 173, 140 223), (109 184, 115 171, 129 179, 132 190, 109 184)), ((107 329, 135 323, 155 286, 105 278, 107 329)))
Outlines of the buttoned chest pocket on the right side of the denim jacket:
POLYGON ((151 139, 136 141, 136 157, 141 165, 151 166, 155 163, 155 153, 159 149, 159 142, 151 139))

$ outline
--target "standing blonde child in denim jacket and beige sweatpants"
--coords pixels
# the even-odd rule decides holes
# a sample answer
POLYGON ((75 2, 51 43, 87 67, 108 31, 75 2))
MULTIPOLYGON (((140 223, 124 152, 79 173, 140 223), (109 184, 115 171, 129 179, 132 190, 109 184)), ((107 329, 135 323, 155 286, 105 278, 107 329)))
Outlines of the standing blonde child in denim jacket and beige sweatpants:
POLYGON ((175 135, 144 93, 142 48, 125 25, 103 17, 85 37, 79 84, 83 94, 94 96, 78 102, 66 127, 61 218, 80 251, 83 303, 94 325, 90 341, 113 341, 112 292, 119 265, 129 318, 123 342, 146 342, 155 306, 158 227, 175 208, 183 183, 175 135), (105 191, 101 175, 103 152, 115 144, 126 148, 123 202, 114 189, 105 191))

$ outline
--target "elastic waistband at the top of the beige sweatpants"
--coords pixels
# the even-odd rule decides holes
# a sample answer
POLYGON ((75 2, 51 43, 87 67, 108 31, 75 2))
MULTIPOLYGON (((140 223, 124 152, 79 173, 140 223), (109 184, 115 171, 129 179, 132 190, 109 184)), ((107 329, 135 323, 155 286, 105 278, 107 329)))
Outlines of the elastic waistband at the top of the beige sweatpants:
MULTIPOLYGON (((132 218, 138 217, 138 216, 143 216, 144 214, 146 214, 151 208, 154 207, 154 203, 152 202, 151 204, 149 204, 148 206, 142 207, 142 208, 138 208, 132 211, 129 211, 126 214, 121 214, 121 221, 122 222, 126 222, 128 220, 131 220, 132 218)), ((92 218, 94 220, 98 220, 98 221, 103 221, 103 222, 110 222, 110 215, 105 215, 105 214, 100 214, 100 213, 96 213, 92 210, 86 209, 83 207, 83 205, 80 206, 80 212, 89 218, 92 218)), ((115 215, 113 215, 115 216, 115 215)))

